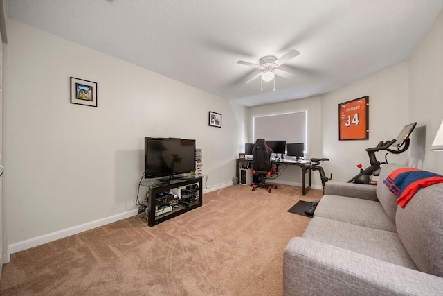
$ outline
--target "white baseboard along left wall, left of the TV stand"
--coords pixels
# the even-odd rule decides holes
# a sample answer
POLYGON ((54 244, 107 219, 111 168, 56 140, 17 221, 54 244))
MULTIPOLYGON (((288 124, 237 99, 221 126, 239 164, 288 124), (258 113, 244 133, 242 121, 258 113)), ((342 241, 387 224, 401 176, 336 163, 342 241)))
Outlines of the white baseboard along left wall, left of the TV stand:
POLYGON ((89 223, 84 223, 82 225, 77 225, 74 227, 62 229, 57 232, 53 232, 51 234, 44 234, 42 236, 37 236, 35 238, 29 238, 26 241, 19 241, 18 243, 13 243, 11 245, 8 245, 8 252, 6 254, 6 258, 3 258, 3 263, 8 263, 10 261, 11 254, 30 249, 31 247, 37 247, 37 245, 43 245, 44 243, 56 241, 57 239, 60 238, 65 238, 67 236, 72 236, 74 234, 80 234, 80 232, 85 232, 87 230, 107 225, 109 223, 113 223, 118 220, 123 220, 125 218, 136 216, 137 214, 138 214, 138 209, 132 209, 131 211, 125 211, 123 213, 116 214, 114 216, 101 218, 95 221, 91 221, 89 223))

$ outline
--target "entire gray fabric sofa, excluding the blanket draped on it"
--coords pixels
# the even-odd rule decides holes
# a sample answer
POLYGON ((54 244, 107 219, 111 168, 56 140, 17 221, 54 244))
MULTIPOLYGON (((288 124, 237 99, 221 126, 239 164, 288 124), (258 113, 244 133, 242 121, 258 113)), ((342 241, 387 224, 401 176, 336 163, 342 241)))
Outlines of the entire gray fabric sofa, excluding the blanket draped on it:
POLYGON ((397 206, 377 186, 327 182, 302 237, 284 250, 284 295, 443 295, 443 184, 397 206))

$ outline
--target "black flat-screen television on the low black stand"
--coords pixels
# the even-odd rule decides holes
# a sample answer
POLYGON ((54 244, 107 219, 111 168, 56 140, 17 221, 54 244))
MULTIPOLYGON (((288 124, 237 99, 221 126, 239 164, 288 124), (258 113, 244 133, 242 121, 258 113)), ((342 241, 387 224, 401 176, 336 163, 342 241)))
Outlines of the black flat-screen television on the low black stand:
POLYGON ((195 140, 145 137, 145 178, 195 171, 195 140))

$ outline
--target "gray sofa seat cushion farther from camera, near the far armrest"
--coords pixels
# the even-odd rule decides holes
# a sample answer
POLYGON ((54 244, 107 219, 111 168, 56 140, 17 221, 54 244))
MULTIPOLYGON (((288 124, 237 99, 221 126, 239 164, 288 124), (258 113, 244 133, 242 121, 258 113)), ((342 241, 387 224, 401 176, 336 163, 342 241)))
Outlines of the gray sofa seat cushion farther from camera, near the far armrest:
POLYGON ((373 200, 324 195, 316 207, 314 216, 397 232, 394 223, 383 210, 380 202, 373 200))

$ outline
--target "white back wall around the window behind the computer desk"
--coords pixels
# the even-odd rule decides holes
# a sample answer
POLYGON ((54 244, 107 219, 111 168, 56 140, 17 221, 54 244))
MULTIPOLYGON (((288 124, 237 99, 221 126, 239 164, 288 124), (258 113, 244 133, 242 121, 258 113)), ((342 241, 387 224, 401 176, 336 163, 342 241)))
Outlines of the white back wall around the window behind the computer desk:
MULTIPOLYGON (((262 105, 248 108, 248 143, 254 143, 252 139, 252 117, 255 115, 272 114, 278 112, 289 112, 296 110, 309 110, 308 113, 308 135, 309 143, 307 146, 308 153, 311 157, 323 157, 322 155, 322 130, 321 130, 321 100, 320 96, 312 98, 303 98, 299 100, 287 101, 284 103, 276 103, 271 105, 262 105)), ((241 151, 244 150, 244 146, 241 151)), ((312 173, 313 187, 320 189, 321 180, 318 173, 312 173)), ((275 179, 275 183, 279 184, 296 184, 301 186, 302 173, 300 168, 296 166, 288 166, 288 168, 275 179)))

